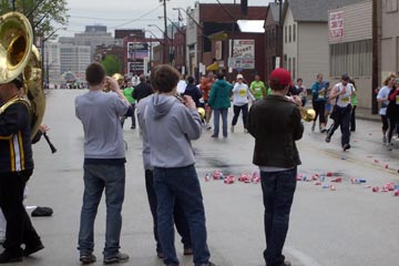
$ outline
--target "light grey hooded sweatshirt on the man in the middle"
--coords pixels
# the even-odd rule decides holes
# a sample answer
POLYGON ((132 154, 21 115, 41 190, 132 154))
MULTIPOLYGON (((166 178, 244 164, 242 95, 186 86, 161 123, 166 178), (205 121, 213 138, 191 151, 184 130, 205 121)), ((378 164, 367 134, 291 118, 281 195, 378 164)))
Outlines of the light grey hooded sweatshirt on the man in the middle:
MULTIPOLYGON (((154 167, 183 167, 195 163, 192 140, 201 136, 201 117, 175 96, 150 96, 143 114, 150 143, 150 161, 154 167)), ((145 164, 145 162, 144 162, 145 164)))

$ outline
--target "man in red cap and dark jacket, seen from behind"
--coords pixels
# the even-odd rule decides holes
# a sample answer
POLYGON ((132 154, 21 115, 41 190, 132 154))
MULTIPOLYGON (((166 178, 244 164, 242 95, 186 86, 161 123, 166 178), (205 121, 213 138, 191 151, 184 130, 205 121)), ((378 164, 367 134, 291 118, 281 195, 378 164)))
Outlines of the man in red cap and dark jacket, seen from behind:
POLYGON ((266 266, 287 266, 283 247, 300 164, 295 141, 304 133, 299 96, 286 98, 290 73, 276 69, 269 79, 272 94, 249 110, 248 132, 255 137, 253 163, 259 166, 265 206, 266 266))

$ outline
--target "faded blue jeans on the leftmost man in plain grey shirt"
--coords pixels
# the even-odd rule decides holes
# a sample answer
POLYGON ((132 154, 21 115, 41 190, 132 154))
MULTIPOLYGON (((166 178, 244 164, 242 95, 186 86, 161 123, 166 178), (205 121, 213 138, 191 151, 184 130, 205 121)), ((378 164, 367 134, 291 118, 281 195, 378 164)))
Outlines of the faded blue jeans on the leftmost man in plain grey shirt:
POLYGON ((104 257, 112 257, 120 249, 122 204, 125 190, 125 167, 108 164, 84 164, 84 194, 79 231, 79 250, 89 255, 94 248, 94 219, 105 190, 106 229, 104 257))

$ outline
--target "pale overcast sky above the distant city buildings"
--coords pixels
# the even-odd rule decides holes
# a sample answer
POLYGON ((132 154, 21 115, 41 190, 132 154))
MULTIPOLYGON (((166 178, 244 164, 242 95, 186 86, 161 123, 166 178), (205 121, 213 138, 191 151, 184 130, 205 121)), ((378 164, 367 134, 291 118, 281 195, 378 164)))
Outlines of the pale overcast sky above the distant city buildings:
MULTIPOLYGON (((234 3, 234 0, 219 0, 222 3, 234 3)), ((248 6, 266 6, 274 0, 248 0, 248 6)), ((177 11, 172 8, 194 7, 195 0, 170 0, 166 2, 167 17, 177 20, 177 11)), ((202 0, 200 2, 217 3, 216 0, 202 0)), ((239 4, 241 1, 236 0, 239 4)), ((163 29, 163 8, 160 0, 68 0, 70 21, 68 30, 60 31, 59 35, 73 35, 84 31, 89 24, 103 24, 109 32, 114 29, 150 29, 157 37, 162 33, 147 24, 157 24, 163 29)), ((185 18, 185 14, 183 14, 185 18)), ((185 21, 185 20, 184 20, 185 21)), ((149 35, 149 34, 147 34, 149 35)))

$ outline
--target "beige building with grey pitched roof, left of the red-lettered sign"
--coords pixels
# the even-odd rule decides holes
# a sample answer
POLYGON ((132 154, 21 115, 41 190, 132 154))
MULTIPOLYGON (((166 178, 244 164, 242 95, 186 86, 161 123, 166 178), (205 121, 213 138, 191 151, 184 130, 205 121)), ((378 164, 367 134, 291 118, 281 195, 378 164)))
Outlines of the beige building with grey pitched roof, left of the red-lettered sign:
MULTIPOLYGON (((329 79, 328 10, 364 0, 286 0, 283 10, 284 66, 310 86, 329 79)), ((347 71, 346 71, 347 72, 347 71)))

